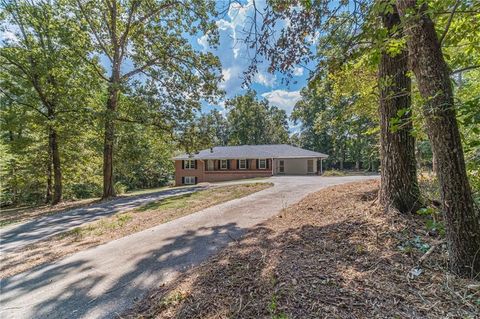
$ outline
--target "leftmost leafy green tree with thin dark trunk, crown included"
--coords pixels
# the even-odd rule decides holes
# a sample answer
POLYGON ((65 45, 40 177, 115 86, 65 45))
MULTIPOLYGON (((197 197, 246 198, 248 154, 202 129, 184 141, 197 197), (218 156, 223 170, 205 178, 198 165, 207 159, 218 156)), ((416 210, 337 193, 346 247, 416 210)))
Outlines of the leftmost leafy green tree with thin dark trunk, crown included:
POLYGON ((71 122, 72 113, 81 113, 85 89, 93 83, 85 63, 86 52, 82 57, 77 54, 85 34, 62 18, 64 12, 55 2, 3 1, 2 7, 9 32, 15 37, 7 40, 0 51, 0 92, 11 107, 33 111, 35 116, 29 119, 46 128, 46 201, 56 204, 63 192, 59 130, 62 124, 71 122))

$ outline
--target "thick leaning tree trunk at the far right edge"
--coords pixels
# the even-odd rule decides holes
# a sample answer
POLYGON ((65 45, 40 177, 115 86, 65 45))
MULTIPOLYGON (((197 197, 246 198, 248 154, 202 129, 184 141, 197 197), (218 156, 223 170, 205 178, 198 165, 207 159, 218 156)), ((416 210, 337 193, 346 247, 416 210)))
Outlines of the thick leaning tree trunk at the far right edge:
POLYGON ((425 101, 423 113, 440 182, 450 269, 461 276, 476 276, 480 273, 480 220, 465 170, 449 68, 426 4, 397 0, 397 5, 414 57, 411 67, 425 101))

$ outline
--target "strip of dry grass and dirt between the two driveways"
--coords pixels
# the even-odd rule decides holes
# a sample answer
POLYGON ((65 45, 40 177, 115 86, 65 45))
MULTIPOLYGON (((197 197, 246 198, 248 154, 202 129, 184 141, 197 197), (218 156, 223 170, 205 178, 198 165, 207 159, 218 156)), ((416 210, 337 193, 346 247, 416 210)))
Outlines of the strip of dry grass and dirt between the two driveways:
POLYGON ((25 248, 0 256, 0 278, 54 261, 80 250, 118 239, 170 220, 271 187, 271 183, 251 183, 215 187, 172 196, 128 212, 117 213, 77 227, 25 248))

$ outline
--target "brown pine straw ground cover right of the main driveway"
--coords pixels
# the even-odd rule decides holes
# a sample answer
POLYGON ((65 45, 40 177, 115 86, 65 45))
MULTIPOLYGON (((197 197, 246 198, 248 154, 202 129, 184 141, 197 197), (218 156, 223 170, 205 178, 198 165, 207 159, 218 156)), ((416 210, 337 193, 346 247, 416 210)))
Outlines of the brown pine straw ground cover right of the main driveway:
POLYGON ((312 194, 124 316, 478 318, 479 282, 449 274, 442 245, 419 266, 439 238, 425 216, 380 210, 377 190, 371 181, 312 194))

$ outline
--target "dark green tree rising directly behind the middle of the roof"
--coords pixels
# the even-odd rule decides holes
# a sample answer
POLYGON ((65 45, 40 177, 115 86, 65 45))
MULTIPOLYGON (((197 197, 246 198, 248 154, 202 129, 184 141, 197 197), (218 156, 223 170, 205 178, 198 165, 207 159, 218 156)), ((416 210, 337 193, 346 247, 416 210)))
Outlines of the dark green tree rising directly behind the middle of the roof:
POLYGON ((228 110, 229 145, 281 144, 288 141, 288 122, 284 110, 258 101, 254 91, 225 103, 228 110))

